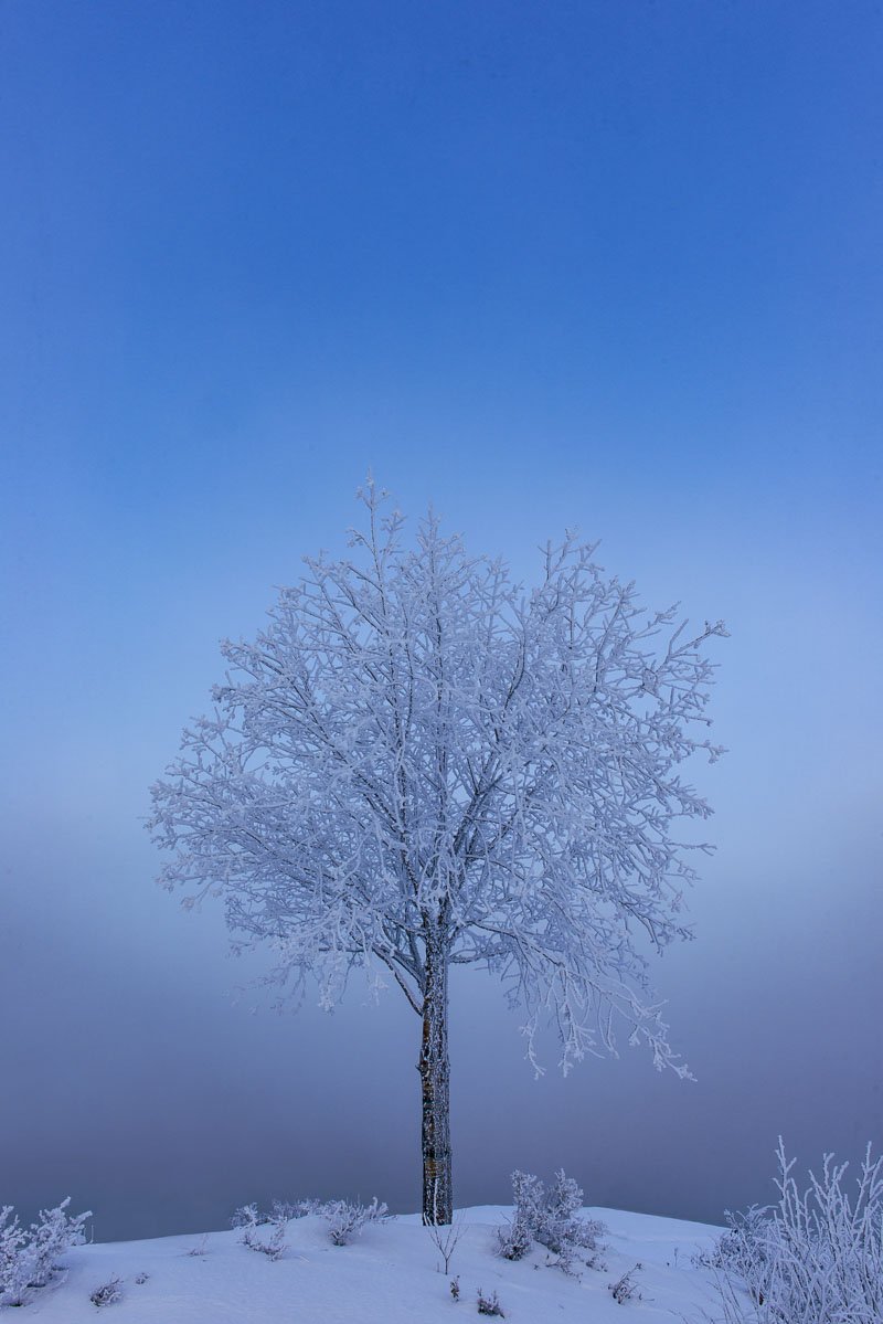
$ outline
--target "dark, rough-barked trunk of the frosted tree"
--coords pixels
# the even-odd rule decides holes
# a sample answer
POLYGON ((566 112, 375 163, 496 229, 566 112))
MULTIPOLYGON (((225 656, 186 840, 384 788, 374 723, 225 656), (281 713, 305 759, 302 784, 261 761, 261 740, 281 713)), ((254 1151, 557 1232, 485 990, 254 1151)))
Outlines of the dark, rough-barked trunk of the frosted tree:
POLYGON ((450 1223, 450 1059, 447 1057, 447 949, 426 941, 424 1039, 420 1051, 422 1087, 424 1222, 450 1223))

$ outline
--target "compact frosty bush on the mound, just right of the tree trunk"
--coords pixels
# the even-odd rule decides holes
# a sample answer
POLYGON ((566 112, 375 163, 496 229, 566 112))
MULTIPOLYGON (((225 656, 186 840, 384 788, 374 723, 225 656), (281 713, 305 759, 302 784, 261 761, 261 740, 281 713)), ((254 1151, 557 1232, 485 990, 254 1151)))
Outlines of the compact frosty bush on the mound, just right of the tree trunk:
POLYGON ((512 1197, 512 1219, 496 1229, 498 1249, 504 1259, 523 1259, 534 1242, 539 1242, 556 1256, 553 1263, 567 1274, 573 1272, 577 1258, 588 1264, 594 1262, 596 1256, 586 1258, 580 1251, 597 1250, 604 1223, 577 1217, 582 1207, 582 1192, 563 1168, 556 1172, 549 1190, 539 1177, 514 1172, 512 1197))

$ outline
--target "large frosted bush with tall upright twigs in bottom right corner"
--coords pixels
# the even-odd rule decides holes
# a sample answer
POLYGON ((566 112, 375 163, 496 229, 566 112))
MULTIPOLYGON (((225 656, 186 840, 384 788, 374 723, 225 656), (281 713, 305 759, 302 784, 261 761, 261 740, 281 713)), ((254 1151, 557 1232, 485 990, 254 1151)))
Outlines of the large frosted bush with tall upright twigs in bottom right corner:
POLYGON ((879 1324, 883 1319, 883 1158, 870 1145, 854 1196, 826 1155, 801 1194, 780 1137, 778 1202, 727 1214, 708 1256, 727 1324, 879 1324))

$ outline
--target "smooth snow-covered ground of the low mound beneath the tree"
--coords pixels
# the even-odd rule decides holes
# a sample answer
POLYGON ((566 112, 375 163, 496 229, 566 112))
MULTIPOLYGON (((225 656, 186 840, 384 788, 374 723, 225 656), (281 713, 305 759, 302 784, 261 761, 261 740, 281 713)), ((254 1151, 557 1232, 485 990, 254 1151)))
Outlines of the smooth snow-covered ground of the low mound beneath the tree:
POLYGON ((516 1324, 703 1324, 706 1313, 720 1313, 708 1272, 691 1264, 696 1247, 710 1246, 720 1229, 617 1209, 585 1213, 609 1229, 606 1267, 585 1268, 579 1280, 547 1267, 541 1247, 516 1263, 494 1254, 494 1227, 511 1214, 506 1206, 465 1210, 447 1275, 417 1214, 368 1225, 348 1246, 332 1246, 327 1222, 311 1215, 287 1225, 278 1260, 249 1250, 238 1231, 74 1247, 65 1255, 66 1279, 34 1294, 15 1317, 46 1324, 94 1324, 95 1317, 107 1324, 462 1324, 485 1317, 479 1288, 485 1296, 496 1292, 506 1320, 516 1324), (641 1299, 617 1304, 608 1284, 635 1263, 641 1299), (454 1276, 458 1301, 450 1292, 454 1276), (114 1278, 122 1279, 120 1299, 95 1307, 90 1294, 114 1278))

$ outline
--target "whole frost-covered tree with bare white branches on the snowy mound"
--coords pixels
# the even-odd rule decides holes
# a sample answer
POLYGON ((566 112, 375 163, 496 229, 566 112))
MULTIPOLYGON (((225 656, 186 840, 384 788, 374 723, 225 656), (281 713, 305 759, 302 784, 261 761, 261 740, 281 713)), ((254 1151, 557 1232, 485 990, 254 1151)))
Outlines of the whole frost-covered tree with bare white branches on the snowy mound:
POLYGON ((647 614, 569 534, 524 593, 432 510, 406 549, 387 493, 357 495, 353 559, 304 557, 256 641, 222 643, 233 670, 150 826, 173 853, 160 882, 222 896, 234 948, 270 944, 286 992, 311 972, 331 1008, 353 967, 392 974, 422 1019, 424 1221, 447 1223, 451 965, 511 981, 535 1066, 548 1014, 564 1070, 616 1051, 622 1021, 687 1074, 635 936, 691 936, 671 825, 710 813, 678 767, 720 752, 690 731, 725 630, 671 632, 675 608, 647 614))

